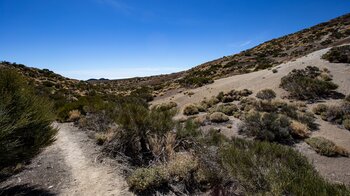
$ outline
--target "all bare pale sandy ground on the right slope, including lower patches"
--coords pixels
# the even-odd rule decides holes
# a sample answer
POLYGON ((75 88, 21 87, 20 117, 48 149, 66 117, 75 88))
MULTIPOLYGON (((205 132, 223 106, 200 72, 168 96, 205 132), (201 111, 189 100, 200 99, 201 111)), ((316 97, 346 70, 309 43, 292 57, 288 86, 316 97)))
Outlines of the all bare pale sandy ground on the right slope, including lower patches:
MULTIPOLYGON (((261 89, 270 88, 277 93, 279 98, 282 98, 286 95, 286 92, 279 88, 281 78, 293 69, 302 69, 309 65, 317 66, 321 69, 329 69, 333 75, 333 81, 339 85, 338 91, 347 95, 350 93, 350 66, 346 64, 332 64, 322 60, 321 56, 328 50, 329 49, 319 50, 299 58, 296 61, 281 64, 277 66, 278 73, 275 74, 272 73, 271 70, 262 70, 223 78, 216 80, 213 84, 191 90, 194 93, 191 97, 183 93, 177 93, 172 97, 157 99, 152 104, 174 101, 179 105, 181 110, 188 103, 198 103, 203 100, 204 97, 209 98, 211 96, 216 96, 220 91, 225 92, 232 89, 240 90, 245 88, 252 90, 254 94, 261 89)), ((339 101, 327 100, 328 104, 335 104, 336 102, 339 101)), ((312 105, 309 105, 309 108, 311 107, 312 105)), ((236 123, 234 119, 232 123, 236 123)), ((313 132, 312 137, 323 136, 350 151, 350 131, 325 122, 319 118, 317 119, 317 123, 320 125, 319 130, 313 132)), ((224 134, 229 136, 237 135, 237 130, 234 128, 231 130, 224 129, 224 131, 224 134), (227 133, 228 131, 230 133, 227 133)), ((314 163, 316 169, 319 170, 323 176, 335 182, 350 184, 350 158, 327 158, 320 156, 311 150, 304 142, 296 145, 296 148, 314 163)))

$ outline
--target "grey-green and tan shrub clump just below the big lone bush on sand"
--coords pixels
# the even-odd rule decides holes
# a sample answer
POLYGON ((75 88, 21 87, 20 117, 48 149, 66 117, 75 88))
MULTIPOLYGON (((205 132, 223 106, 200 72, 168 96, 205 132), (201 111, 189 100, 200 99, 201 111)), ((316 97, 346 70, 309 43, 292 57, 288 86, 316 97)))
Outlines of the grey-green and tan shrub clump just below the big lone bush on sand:
POLYGON ((258 140, 292 144, 317 128, 314 115, 305 112, 302 105, 248 98, 240 102, 240 107, 240 133, 258 140))

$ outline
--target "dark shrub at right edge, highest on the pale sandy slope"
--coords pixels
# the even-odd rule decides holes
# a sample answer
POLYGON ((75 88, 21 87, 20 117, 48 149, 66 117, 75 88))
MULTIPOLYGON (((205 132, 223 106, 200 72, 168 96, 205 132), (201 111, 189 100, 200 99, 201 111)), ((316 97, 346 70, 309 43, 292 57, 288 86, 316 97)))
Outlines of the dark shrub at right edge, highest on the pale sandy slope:
POLYGON ((350 63, 350 45, 334 47, 322 58, 331 63, 350 63))

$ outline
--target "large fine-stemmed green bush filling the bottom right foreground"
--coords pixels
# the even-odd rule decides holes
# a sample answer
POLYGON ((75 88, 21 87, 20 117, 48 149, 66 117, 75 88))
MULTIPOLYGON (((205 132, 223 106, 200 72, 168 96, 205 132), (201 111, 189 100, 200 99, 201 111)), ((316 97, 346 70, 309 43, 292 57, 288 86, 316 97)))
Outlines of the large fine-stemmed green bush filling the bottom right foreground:
POLYGON ((349 195, 324 180, 299 152, 267 142, 234 139, 220 149, 221 164, 247 195, 349 195))

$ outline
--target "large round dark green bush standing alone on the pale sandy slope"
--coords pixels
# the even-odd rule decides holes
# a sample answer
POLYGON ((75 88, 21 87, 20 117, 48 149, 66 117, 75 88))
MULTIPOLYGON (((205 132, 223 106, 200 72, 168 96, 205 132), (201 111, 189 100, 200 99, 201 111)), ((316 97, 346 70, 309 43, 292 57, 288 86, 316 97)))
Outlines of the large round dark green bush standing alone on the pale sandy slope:
POLYGON ((330 96, 338 85, 320 77, 321 70, 308 66, 294 69, 281 79, 280 87, 289 92, 291 98, 299 100, 317 100, 330 96))

